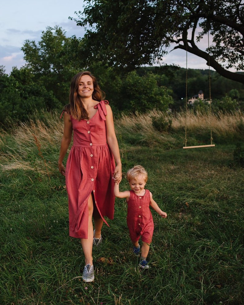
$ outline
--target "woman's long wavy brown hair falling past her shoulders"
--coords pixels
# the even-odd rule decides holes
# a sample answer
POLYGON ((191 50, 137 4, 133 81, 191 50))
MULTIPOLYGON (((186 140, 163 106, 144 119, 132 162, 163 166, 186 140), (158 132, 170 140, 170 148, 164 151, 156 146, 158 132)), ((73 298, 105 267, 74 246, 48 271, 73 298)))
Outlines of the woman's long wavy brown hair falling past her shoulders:
POLYGON ((74 119, 80 121, 81 119, 88 119, 88 113, 84 108, 80 97, 78 95, 78 87, 80 78, 83 75, 89 75, 92 78, 94 91, 92 93, 92 99, 100 102, 105 99, 105 92, 102 91, 97 83, 96 77, 91 74, 89 71, 79 72, 73 76, 70 84, 69 91, 69 106, 70 114, 74 119))

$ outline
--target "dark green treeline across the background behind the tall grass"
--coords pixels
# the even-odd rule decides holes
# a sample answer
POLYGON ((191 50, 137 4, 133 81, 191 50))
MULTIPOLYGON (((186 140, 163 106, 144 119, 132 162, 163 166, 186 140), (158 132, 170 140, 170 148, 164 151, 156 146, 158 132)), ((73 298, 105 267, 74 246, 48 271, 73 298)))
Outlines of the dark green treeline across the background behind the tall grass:
MULTIPOLYGON (((188 69, 187 79, 185 68, 167 65, 117 73, 103 63, 98 63, 86 70, 96 76, 115 115, 122 111, 143 113, 152 109, 182 111, 185 107, 186 84, 187 99, 202 90, 204 99, 208 100, 211 92, 214 112, 244 110, 244 85, 209 69, 188 69)), ((35 110, 61 112, 63 106, 69 103, 70 80, 77 72, 78 69, 70 70, 69 75, 64 77, 55 71, 33 73, 33 69, 28 67, 14 67, 7 75, 1 66, 0 127, 8 129, 11 122, 29 120, 35 110)), ((195 111, 207 111, 208 108, 207 103, 201 100, 194 104, 195 111)))

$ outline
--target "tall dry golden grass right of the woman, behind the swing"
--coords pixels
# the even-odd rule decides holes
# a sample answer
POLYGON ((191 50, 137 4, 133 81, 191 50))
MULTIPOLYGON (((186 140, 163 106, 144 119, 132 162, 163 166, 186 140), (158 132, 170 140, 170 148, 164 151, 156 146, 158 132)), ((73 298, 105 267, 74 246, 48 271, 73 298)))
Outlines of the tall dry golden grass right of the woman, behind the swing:
MULTIPOLYGON (((187 127, 187 145, 208 143, 212 136, 214 143, 235 143, 244 137, 244 115, 241 112, 232 114, 218 113, 210 116, 207 113, 192 113, 188 111, 167 114, 161 111, 149 111, 121 115, 116 121, 116 130, 124 135, 124 140, 130 144, 145 144, 154 147, 164 145, 166 149, 184 146, 185 124, 187 127), (153 128, 153 119, 160 119, 162 124, 168 124, 168 132, 159 132, 153 128), (187 123, 187 124, 186 124, 187 123)), ((160 127, 160 126, 159 126, 160 127)), ((163 129, 163 126, 162 126, 163 129)))

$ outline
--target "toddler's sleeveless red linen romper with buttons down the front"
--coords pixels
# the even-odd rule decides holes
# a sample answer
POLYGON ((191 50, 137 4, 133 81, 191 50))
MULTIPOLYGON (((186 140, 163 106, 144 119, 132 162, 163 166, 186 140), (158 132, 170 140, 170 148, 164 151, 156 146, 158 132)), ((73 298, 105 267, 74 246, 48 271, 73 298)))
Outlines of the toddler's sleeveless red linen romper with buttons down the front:
MULTIPOLYGON (((146 189, 145 189, 146 190, 146 189)), ((130 190, 130 198, 127 202, 127 226, 132 242, 141 240, 145 243, 152 242, 154 223, 149 208, 150 192, 146 190, 144 196, 138 196, 130 190)))

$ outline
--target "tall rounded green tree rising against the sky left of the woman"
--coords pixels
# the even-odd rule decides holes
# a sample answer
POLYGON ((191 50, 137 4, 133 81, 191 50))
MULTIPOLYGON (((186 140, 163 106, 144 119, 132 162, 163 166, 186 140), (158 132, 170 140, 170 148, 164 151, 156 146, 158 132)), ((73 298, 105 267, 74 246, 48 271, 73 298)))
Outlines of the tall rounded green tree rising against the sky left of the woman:
POLYGON ((71 78, 85 65, 85 58, 77 58, 80 44, 76 37, 66 37, 56 26, 47 27, 38 43, 26 40, 21 48, 26 68, 33 73, 34 79, 63 104, 68 103, 71 78))

